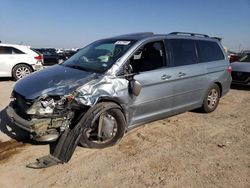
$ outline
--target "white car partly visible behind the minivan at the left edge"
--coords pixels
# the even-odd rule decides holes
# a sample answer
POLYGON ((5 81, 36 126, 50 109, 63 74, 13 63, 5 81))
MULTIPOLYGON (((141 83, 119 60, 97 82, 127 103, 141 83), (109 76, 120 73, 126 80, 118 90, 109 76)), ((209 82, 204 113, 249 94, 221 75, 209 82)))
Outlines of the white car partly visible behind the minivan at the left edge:
POLYGON ((0 77, 19 80, 43 68, 43 55, 28 46, 0 43, 0 77))

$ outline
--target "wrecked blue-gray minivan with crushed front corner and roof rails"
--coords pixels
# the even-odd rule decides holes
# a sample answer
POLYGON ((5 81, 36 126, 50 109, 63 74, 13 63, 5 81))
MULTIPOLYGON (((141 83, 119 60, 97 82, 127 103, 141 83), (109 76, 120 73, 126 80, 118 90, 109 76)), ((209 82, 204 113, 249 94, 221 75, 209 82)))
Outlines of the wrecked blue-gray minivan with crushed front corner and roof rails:
POLYGON ((207 35, 122 35, 20 80, 7 113, 34 140, 61 135, 54 157, 31 165, 40 168, 55 158, 67 162, 78 141, 104 148, 147 122, 197 108, 213 112, 230 89, 230 73, 219 40, 207 35))

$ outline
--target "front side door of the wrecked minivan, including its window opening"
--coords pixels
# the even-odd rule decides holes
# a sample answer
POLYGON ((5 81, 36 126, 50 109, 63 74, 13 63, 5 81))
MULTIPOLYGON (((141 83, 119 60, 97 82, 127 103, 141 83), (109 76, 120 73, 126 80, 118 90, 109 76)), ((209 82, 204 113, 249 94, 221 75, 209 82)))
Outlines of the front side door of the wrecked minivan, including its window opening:
POLYGON ((173 105, 172 73, 166 66, 163 41, 150 42, 130 60, 134 79, 142 85, 140 94, 129 106, 131 122, 137 125, 171 113, 173 105), (137 56, 137 58, 135 58, 137 56))

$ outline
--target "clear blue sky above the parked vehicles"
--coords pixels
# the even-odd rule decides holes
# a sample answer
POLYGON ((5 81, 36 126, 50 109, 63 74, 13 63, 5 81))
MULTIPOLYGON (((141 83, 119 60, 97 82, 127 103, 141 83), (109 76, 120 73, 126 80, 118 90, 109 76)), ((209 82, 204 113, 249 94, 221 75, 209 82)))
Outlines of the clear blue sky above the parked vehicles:
POLYGON ((250 0, 0 0, 0 40, 79 48, 134 32, 185 31, 250 49, 250 0))

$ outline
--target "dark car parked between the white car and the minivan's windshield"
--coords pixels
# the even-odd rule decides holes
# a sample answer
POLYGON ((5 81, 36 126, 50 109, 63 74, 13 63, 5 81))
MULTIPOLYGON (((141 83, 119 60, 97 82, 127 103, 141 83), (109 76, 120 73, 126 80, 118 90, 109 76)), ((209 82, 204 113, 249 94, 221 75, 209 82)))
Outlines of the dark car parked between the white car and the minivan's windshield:
POLYGON ((34 48, 33 50, 43 54, 44 66, 60 64, 68 58, 64 54, 56 53, 56 49, 53 48, 34 48))

